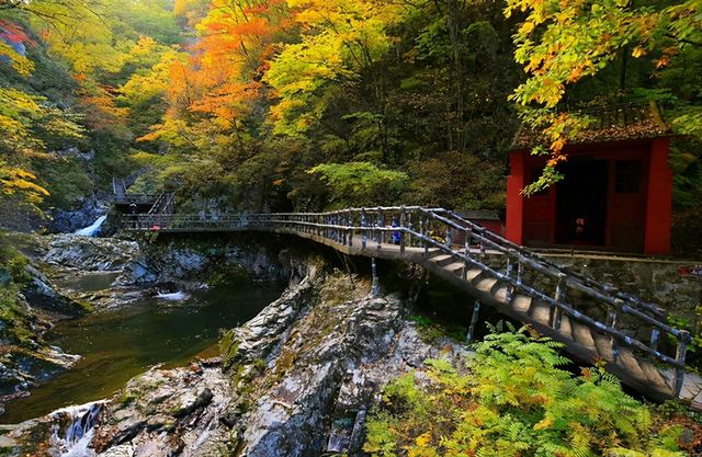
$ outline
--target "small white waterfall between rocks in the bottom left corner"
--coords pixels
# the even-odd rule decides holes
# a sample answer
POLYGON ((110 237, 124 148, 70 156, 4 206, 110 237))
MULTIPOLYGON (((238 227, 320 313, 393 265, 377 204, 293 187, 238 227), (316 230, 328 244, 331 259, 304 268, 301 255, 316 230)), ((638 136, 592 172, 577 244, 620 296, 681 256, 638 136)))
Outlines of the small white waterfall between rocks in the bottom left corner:
POLYGON ((94 401, 78 407, 61 408, 52 413, 52 418, 57 422, 52 436, 52 447, 60 453, 60 457, 95 455, 89 446, 95 432, 95 421, 103 407, 104 401, 94 401))

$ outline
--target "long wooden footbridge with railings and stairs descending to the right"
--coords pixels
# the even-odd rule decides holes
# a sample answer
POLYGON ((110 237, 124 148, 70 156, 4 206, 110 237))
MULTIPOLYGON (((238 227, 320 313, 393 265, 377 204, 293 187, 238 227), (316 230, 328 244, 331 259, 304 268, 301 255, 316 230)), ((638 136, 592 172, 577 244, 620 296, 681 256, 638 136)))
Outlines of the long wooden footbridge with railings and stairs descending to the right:
MULTIPOLYGON (((655 400, 702 410, 702 379, 686 372, 691 335, 666 310, 564 269, 442 208, 377 207, 331 213, 125 215, 129 231, 290 233, 349 255, 423 266, 482 304, 565 345, 655 400)), ((479 305, 476 301, 476 310, 479 305)), ((474 313, 473 325, 477 318, 474 313)))

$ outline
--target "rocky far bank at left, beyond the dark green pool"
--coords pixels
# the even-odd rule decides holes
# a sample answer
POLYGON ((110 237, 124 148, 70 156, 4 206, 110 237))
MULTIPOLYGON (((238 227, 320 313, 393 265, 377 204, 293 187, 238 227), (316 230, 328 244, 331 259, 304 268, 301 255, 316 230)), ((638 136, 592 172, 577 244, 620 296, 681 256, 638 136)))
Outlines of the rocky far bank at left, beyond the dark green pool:
MULTIPOLYGON (((246 290, 244 295, 256 295, 253 285, 264 284, 259 288, 273 294, 262 293, 263 301, 253 300, 258 311, 278 296, 286 279, 282 275, 288 274, 274 266, 278 260, 264 249, 241 248, 237 243, 160 245, 144 240, 139 244, 126 239, 12 233, 3 235, 2 241, 12 247, 8 252, 13 253, 14 260, 9 265, 16 266, 13 275, 8 275, 10 282, 0 284, 0 403, 25 396, 76 364, 84 366, 80 354, 91 349, 64 344, 65 330, 70 333, 73 327, 87 328, 89 339, 90 329, 99 329, 95 322, 101 320, 109 322, 121 316, 146 324, 149 312, 168 309, 160 305, 184 301, 183 309, 200 306, 201 301, 212 305, 226 299, 223 290, 241 289, 246 290), (135 312, 139 309, 149 311, 135 312)), ((244 312, 244 317, 254 313, 244 312)), ((176 320, 186 319, 173 312, 167 315, 176 320)), ((158 323, 158 319, 151 316, 151 323, 158 323)), ((241 321, 220 320, 227 324, 241 321)), ((213 325, 213 335, 217 329, 213 325)), ((117 338, 115 343, 118 341, 117 338)))

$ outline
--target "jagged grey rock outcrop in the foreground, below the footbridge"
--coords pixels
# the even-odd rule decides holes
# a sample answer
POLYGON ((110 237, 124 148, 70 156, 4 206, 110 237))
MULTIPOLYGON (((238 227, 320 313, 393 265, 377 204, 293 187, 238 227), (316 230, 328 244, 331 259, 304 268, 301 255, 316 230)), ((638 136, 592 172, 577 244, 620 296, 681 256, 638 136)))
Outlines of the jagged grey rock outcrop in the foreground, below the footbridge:
POLYGON ((226 332, 220 357, 155 367, 99 405, 3 426, 3 450, 355 455, 381 386, 426 358, 465 353, 448 339, 424 342, 407 318, 409 304, 397 294, 373 297, 367 278, 333 272, 319 259, 292 261, 290 269, 287 290, 226 332))

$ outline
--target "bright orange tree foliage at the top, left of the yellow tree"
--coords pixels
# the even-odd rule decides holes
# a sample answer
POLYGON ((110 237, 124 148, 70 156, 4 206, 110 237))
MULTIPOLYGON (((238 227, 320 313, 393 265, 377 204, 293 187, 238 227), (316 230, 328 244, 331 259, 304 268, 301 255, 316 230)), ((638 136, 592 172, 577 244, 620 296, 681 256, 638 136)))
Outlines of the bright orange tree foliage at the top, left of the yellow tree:
POLYGON ((284 0, 212 0, 195 26, 200 39, 190 61, 171 66, 166 121, 202 118, 222 132, 235 128, 259 96, 280 24, 287 19, 284 0))

